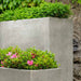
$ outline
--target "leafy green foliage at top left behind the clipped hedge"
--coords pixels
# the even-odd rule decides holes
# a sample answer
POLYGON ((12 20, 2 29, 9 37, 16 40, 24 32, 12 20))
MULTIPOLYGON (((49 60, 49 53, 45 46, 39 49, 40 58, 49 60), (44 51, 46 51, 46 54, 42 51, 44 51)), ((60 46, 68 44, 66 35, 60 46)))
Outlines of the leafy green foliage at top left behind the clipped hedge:
POLYGON ((24 6, 37 6, 44 0, 0 0, 0 13, 5 10, 14 10, 24 6))

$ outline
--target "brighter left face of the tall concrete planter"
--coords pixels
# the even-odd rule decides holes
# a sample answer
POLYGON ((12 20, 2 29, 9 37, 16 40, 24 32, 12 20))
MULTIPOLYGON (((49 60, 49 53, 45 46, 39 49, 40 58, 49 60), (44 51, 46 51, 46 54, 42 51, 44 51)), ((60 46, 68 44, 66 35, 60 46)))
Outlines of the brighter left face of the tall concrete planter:
POLYGON ((18 45, 22 49, 37 46, 48 50, 49 18, 11 21, 0 23, 0 48, 18 45), (46 37, 48 36, 48 37, 46 37))

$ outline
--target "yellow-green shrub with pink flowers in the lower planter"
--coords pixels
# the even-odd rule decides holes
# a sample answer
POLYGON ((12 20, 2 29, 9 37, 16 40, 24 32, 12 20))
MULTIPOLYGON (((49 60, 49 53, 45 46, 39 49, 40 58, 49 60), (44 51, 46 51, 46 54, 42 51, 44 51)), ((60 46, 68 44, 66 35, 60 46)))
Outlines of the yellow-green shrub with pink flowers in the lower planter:
POLYGON ((18 46, 10 46, 3 50, 0 49, 0 67, 16 69, 49 69, 57 68, 58 65, 55 60, 55 54, 51 52, 36 50, 35 48, 22 51, 18 46))

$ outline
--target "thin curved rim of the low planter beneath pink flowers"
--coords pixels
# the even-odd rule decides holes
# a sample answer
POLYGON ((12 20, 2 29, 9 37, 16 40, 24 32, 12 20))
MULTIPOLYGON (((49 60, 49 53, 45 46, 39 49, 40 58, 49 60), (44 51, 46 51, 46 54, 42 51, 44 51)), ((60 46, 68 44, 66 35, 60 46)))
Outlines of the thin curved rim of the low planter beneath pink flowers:
POLYGON ((0 67, 0 69, 3 70, 12 70, 12 71, 49 71, 49 70, 59 70, 60 68, 51 68, 51 69, 37 69, 37 70, 26 70, 26 69, 14 69, 14 68, 5 68, 5 67, 0 67))

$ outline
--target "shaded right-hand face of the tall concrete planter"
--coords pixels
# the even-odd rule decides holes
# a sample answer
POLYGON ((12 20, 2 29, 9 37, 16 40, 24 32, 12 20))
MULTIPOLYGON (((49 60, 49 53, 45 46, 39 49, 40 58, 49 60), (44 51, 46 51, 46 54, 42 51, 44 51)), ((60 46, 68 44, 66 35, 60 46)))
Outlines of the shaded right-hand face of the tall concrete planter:
POLYGON ((60 67, 65 69, 63 81, 72 81, 72 22, 70 19, 51 18, 50 49, 56 54, 60 67))

